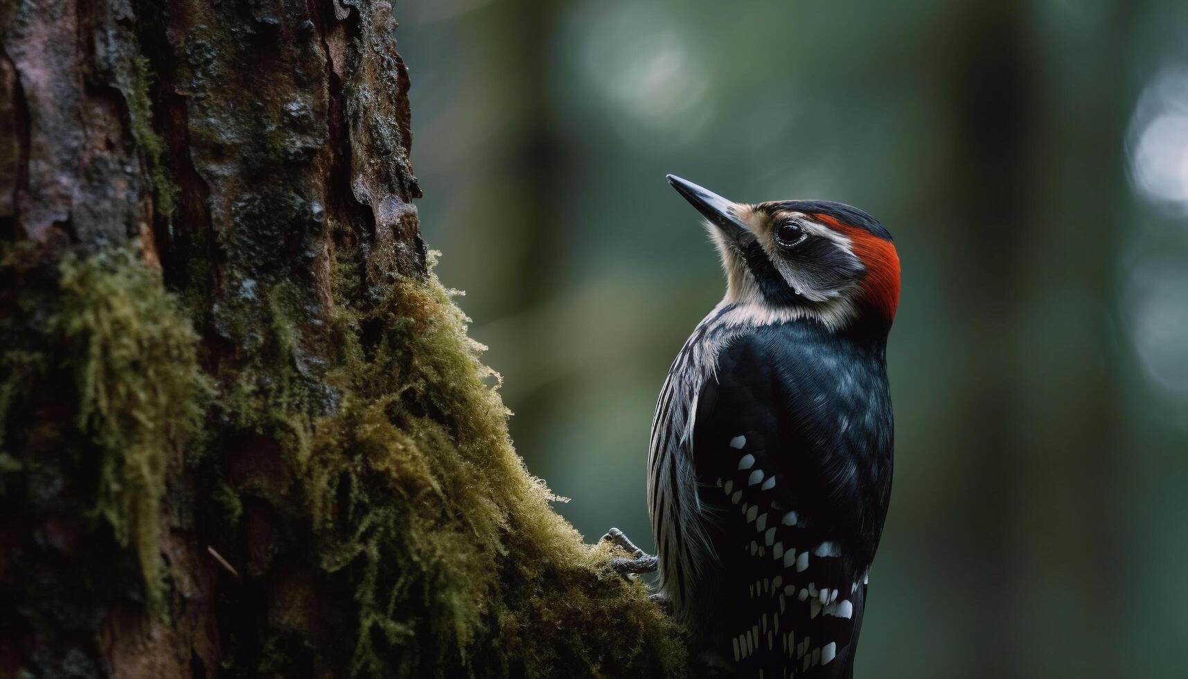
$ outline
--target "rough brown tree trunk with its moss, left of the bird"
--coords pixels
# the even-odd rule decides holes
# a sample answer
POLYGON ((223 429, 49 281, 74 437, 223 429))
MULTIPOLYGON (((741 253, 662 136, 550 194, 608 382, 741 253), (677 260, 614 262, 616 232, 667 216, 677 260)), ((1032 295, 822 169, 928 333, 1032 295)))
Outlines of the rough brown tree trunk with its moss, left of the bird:
POLYGON ((429 272, 396 27, 0 0, 0 678, 683 672, 429 272))

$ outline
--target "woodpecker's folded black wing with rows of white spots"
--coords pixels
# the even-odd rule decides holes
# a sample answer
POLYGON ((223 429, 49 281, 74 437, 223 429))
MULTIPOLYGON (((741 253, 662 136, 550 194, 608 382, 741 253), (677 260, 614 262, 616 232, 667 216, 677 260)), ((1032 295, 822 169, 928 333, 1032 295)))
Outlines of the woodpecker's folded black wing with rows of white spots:
POLYGON ((820 449, 822 417, 801 403, 813 377, 776 369, 795 360, 778 342, 738 340, 699 397, 693 455, 725 611, 714 624, 740 668, 845 677, 868 562, 848 553, 854 474, 820 449))

